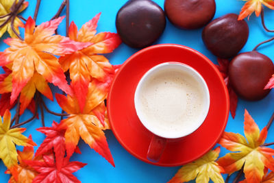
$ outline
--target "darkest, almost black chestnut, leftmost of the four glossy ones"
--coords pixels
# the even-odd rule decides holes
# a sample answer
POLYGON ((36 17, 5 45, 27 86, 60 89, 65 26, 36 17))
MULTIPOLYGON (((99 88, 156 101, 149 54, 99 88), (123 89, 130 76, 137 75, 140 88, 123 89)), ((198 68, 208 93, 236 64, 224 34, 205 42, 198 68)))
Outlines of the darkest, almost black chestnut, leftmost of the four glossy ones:
POLYGON ((150 0, 130 0, 116 15, 116 29, 129 47, 143 48, 157 40, 166 27, 164 11, 150 0))

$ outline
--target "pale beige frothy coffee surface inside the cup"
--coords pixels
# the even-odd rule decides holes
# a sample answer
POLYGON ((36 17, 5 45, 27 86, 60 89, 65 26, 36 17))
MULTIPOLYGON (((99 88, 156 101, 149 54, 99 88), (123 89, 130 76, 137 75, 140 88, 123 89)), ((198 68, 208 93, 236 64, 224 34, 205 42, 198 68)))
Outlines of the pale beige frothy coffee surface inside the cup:
POLYGON ((155 73, 140 88, 140 110, 158 132, 190 132, 200 123, 206 94, 195 77, 179 69, 155 73))

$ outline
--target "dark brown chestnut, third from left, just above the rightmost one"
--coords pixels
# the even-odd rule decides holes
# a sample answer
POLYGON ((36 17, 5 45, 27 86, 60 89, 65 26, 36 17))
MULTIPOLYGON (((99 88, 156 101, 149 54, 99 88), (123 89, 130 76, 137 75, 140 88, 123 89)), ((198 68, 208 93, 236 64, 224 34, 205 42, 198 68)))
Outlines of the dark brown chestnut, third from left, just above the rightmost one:
POLYGON ((249 27, 245 20, 238 21, 237 14, 226 14, 203 28, 206 47, 219 58, 232 58, 245 46, 249 27))

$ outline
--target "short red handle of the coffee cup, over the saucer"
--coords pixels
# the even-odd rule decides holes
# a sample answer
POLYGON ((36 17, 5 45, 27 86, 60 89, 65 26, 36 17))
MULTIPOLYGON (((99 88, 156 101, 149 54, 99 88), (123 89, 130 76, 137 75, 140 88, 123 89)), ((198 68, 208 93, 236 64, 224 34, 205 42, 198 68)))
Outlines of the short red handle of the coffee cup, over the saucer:
POLYGON ((149 144, 149 150, 147 151, 147 159, 151 162, 158 162, 166 147, 166 138, 153 135, 149 144))

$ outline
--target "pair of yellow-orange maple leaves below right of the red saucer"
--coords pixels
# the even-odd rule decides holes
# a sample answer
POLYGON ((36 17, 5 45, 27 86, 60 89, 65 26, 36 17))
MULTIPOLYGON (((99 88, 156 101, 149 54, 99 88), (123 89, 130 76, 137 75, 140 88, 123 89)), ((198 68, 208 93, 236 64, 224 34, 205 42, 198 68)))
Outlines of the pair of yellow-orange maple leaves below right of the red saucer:
POLYGON ((274 149, 264 146, 267 128, 260 132, 258 125, 245 110, 244 133, 224 132, 219 144, 231 153, 218 158, 220 147, 211 150, 205 156, 186 164, 169 181, 170 183, 188 182, 224 182, 221 173, 232 173, 243 169, 245 180, 242 183, 274 181, 274 149), (271 171, 269 173, 269 170, 271 171))

